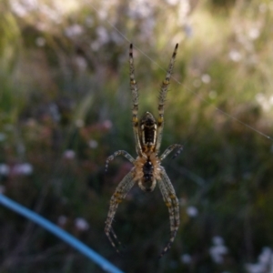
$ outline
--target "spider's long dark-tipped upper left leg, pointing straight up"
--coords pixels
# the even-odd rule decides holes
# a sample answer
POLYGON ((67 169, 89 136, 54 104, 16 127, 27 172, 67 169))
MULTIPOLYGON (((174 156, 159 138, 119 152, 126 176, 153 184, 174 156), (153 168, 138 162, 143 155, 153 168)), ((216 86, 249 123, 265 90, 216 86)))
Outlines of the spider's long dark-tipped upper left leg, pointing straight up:
POLYGON ((142 155, 142 149, 139 140, 139 132, 138 132, 138 89, 136 85, 135 79, 135 67, 134 67, 134 57, 133 57, 133 44, 130 45, 129 51, 129 64, 130 64, 130 87, 133 97, 133 109, 132 109, 132 121, 133 121, 133 130, 136 140, 136 153, 137 155, 142 155))

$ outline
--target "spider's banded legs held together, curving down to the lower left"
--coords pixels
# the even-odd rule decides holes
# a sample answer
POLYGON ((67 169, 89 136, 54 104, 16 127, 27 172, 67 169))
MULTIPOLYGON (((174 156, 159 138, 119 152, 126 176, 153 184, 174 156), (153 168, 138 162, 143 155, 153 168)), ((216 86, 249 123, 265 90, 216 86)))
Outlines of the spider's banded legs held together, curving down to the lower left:
POLYGON ((108 215, 106 218, 105 232, 106 232, 107 238, 109 239, 113 248, 116 249, 117 253, 119 253, 119 251, 116 248, 116 244, 121 245, 121 243, 118 241, 116 237, 116 233, 114 232, 114 229, 112 227, 112 222, 115 217, 118 204, 122 202, 122 200, 126 197, 131 187, 134 186, 134 184, 135 184, 135 180, 134 180, 134 169, 133 169, 126 175, 126 177, 124 177, 121 180, 121 182, 116 187, 115 193, 110 199, 110 207, 109 207, 108 215))

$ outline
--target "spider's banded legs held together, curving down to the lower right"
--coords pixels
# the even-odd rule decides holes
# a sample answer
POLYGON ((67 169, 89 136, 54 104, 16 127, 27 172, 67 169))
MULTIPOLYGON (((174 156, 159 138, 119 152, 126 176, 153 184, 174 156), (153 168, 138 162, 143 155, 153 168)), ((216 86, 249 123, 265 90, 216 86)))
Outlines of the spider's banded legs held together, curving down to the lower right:
POLYGON ((159 258, 161 258, 167 250, 171 247, 177 236, 177 230, 179 226, 179 202, 176 196, 174 187, 171 184, 170 179, 167 177, 167 173, 163 167, 161 167, 161 180, 158 181, 158 186, 162 193, 163 199, 166 203, 169 221, 170 221, 170 238, 166 248, 163 249, 159 258))

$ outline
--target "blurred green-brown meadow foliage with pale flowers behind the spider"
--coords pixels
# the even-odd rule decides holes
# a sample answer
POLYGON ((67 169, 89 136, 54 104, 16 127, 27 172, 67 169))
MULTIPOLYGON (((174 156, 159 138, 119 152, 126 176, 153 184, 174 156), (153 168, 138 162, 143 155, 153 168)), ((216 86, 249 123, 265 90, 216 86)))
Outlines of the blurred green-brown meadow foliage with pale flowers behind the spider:
MULTIPOLYGON (((273 5, 258 0, 2 0, 0 190, 126 272, 272 268, 273 5), (167 95, 164 166, 180 200, 173 247, 158 189, 134 187, 104 234, 109 199, 136 156, 128 45, 140 112, 179 43, 167 95), (163 67, 163 68, 162 68, 163 67), (225 113, 226 114, 225 114, 225 113)), ((102 272, 41 227, 0 209, 0 272, 102 272)))

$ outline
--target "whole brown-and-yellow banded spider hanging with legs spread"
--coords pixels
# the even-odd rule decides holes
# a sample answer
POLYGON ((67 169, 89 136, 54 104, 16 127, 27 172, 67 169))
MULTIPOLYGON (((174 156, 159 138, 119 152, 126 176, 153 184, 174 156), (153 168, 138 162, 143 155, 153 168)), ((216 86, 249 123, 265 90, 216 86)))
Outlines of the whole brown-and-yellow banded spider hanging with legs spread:
POLYGON ((116 191, 110 199, 110 207, 106 218, 106 236, 110 240, 112 246, 116 248, 118 253, 119 251, 116 245, 120 245, 120 242, 116 237, 116 233, 112 227, 112 222, 115 217, 118 204, 122 202, 122 200, 126 197, 126 194, 135 185, 135 183, 137 183, 142 190, 147 192, 153 191, 156 187, 156 184, 158 183, 163 200, 168 209, 170 221, 170 238, 167 242, 167 246, 162 250, 159 258, 161 258, 171 247, 177 235, 177 229, 179 226, 179 202, 175 189, 172 186, 169 177, 167 177, 167 173, 164 167, 162 167, 160 164, 161 161, 167 157, 167 155, 175 148, 177 148, 177 153, 174 157, 177 157, 181 153, 183 147, 179 144, 173 144, 167 147, 161 156, 158 156, 164 126, 164 104, 167 96, 167 87, 169 85, 175 58, 177 56, 177 47, 178 44, 176 45, 174 53, 171 57, 166 78, 163 81, 159 92, 158 117, 156 121, 156 118, 149 112, 146 112, 144 116, 138 120, 138 90, 135 80, 133 45, 130 45, 130 88, 133 96, 132 121, 136 141, 137 157, 135 159, 126 151, 118 150, 112 156, 106 159, 106 170, 108 168, 109 162, 117 156, 126 157, 126 159, 128 159, 134 165, 129 173, 126 174, 126 177, 124 177, 116 187, 116 191))

